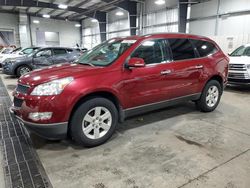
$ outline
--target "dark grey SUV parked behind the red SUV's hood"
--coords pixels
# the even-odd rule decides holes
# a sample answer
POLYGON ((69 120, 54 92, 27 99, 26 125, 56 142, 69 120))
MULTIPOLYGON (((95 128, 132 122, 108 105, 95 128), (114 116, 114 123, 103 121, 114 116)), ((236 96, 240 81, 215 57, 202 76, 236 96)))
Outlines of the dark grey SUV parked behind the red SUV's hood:
POLYGON ((3 73, 20 77, 34 69, 73 62, 79 56, 80 52, 72 48, 41 48, 24 57, 6 59, 3 62, 3 73))

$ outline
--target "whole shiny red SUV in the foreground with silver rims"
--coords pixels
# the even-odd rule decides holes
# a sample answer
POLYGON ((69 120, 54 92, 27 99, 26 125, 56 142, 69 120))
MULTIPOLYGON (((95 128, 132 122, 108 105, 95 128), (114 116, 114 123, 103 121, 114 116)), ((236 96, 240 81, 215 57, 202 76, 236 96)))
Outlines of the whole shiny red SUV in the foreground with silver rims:
POLYGON ((22 76, 11 112, 47 139, 70 135, 84 146, 97 146, 129 116, 187 100, 201 111, 213 111, 227 82, 228 62, 205 37, 166 33, 115 38, 74 64, 22 76))

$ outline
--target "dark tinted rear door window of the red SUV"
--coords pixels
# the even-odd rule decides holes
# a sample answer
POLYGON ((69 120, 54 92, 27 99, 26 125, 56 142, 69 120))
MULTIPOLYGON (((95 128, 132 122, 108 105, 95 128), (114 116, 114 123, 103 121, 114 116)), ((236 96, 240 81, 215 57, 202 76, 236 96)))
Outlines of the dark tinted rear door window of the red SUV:
POLYGON ((195 58, 193 46, 188 39, 168 39, 168 41, 174 61, 195 58))

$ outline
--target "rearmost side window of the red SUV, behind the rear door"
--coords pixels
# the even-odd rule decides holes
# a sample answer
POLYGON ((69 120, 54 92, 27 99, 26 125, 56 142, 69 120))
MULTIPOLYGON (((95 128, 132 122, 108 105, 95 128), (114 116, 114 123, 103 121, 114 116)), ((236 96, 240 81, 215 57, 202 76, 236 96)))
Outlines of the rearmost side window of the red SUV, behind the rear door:
POLYGON ((195 45, 197 51, 199 52, 200 57, 206 57, 218 51, 215 45, 211 42, 194 40, 194 39, 191 39, 191 41, 195 45))

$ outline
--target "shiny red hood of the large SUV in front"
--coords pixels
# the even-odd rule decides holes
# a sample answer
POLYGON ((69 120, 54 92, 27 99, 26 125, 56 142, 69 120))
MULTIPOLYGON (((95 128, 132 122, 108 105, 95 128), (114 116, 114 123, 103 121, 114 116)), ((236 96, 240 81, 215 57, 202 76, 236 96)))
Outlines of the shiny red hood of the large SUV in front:
POLYGON ((42 83, 50 82, 52 80, 65 77, 87 76, 97 73, 97 70, 102 70, 102 67, 92 67, 80 64, 58 64, 55 66, 46 67, 43 69, 36 69, 19 78, 18 82, 24 85, 36 86, 42 83))

